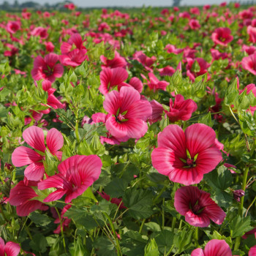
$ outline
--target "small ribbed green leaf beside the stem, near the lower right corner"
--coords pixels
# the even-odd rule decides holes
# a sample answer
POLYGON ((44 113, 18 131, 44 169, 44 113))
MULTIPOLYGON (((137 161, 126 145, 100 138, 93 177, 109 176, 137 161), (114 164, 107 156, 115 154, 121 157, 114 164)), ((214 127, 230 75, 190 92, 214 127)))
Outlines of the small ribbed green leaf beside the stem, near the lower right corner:
POLYGON ((230 222, 230 236, 231 237, 238 237, 243 236, 249 230, 252 230, 251 224, 251 217, 247 216, 243 219, 240 215, 236 216, 230 222))

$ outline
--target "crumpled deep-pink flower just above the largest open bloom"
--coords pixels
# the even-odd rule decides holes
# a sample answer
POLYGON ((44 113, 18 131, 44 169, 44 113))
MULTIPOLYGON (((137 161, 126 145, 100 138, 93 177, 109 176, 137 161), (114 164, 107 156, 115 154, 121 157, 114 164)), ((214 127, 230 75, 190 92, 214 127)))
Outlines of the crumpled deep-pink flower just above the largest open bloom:
POLYGON ((197 110, 197 104, 192 99, 184 100, 181 94, 176 95, 173 100, 170 99, 170 111, 165 110, 170 121, 175 122, 178 120, 189 120, 192 113, 197 110))

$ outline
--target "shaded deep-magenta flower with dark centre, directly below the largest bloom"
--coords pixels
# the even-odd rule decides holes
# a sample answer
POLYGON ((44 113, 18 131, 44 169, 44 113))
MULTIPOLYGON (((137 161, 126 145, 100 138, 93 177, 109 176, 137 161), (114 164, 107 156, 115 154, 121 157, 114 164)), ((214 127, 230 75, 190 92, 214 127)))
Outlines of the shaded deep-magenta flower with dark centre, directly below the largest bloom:
POLYGON ((197 187, 179 188, 174 196, 174 206, 179 214, 185 216, 186 222, 195 227, 208 227, 210 219, 218 225, 224 221, 226 214, 211 195, 197 187))

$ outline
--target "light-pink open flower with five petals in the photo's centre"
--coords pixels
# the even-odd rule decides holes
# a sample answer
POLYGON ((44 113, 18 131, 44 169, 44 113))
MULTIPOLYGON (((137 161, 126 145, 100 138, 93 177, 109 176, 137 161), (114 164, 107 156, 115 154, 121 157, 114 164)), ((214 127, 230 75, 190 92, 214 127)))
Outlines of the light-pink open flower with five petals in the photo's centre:
POLYGON ((152 108, 147 100, 140 99, 135 89, 124 86, 120 92, 111 91, 106 95, 103 108, 112 116, 106 121, 106 129, 115 138, 141 138, 148 130, 146 120, 152 108))

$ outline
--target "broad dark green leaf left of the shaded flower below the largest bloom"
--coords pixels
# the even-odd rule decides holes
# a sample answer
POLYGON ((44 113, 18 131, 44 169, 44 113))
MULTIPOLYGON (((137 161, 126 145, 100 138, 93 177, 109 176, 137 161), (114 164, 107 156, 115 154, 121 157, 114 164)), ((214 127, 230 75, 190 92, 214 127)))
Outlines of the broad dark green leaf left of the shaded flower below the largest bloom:
POLYGON ((135 187, 127 189, 123 197, 124 206, 129 208, 129 215, 135 219, 148 218, 153 214, 152 194, 148 190, 136 189, 135 187))

